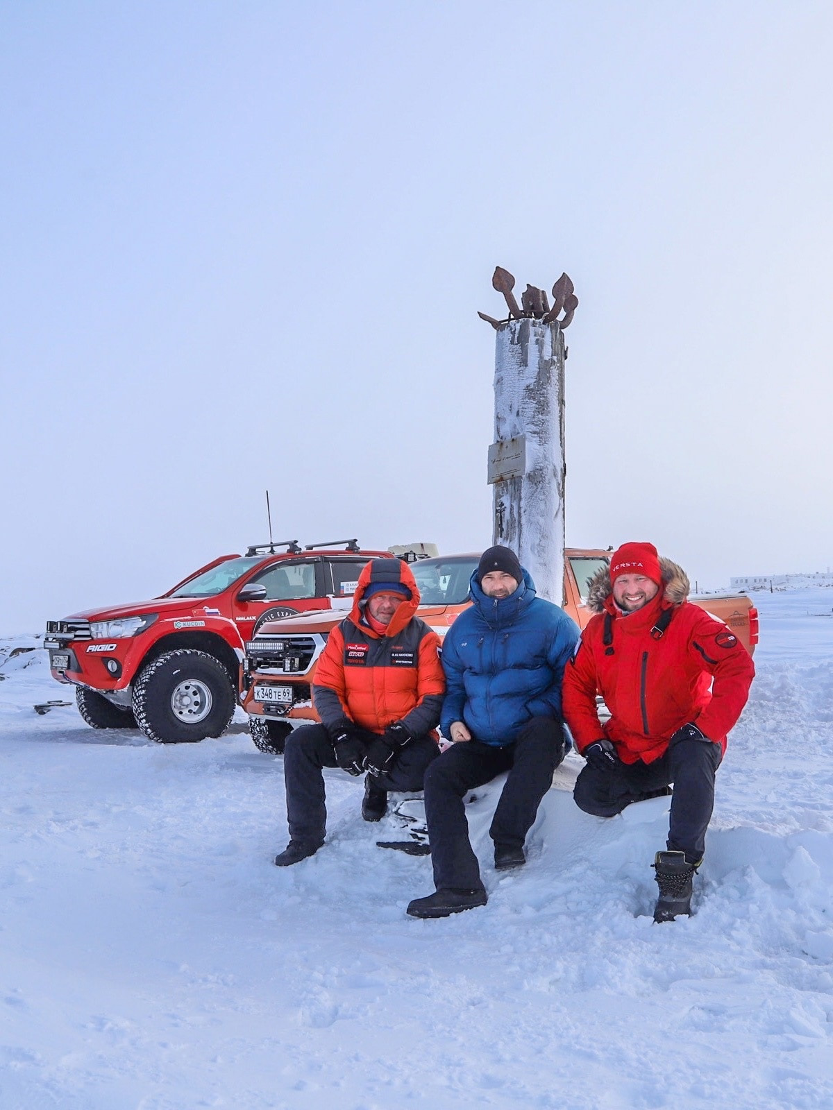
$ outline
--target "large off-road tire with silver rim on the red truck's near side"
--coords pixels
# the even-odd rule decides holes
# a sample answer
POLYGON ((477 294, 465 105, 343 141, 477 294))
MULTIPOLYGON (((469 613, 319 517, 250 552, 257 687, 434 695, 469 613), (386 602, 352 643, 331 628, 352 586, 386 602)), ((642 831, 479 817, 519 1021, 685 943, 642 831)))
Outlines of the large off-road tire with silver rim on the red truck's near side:
POLYGON ((207 736, 221 736, 234 716, 235 702, 232 678, 223 664, 193 648, 158 656, 142 668, 133 686, 137 724, 157 744, 194 744, 207 736), (192 709, 187 704, 189 692, 197 692, 192 709), (194 719, 182 719, 190 712, 194 719))

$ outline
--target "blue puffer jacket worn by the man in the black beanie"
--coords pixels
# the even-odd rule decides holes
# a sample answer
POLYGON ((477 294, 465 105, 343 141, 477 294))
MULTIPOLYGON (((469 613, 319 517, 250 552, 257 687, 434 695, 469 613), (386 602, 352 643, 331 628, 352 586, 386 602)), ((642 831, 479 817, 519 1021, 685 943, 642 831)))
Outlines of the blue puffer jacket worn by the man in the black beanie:
POLYGON ((535 596, 529 572, 509 597, 486 597, 471 577, 473 601, 442 648, 448 684, 440 727, 462 720, 483 744, 516 739, 531 717, 561 717, 561 679, 579 639, 575 622, 535 596))

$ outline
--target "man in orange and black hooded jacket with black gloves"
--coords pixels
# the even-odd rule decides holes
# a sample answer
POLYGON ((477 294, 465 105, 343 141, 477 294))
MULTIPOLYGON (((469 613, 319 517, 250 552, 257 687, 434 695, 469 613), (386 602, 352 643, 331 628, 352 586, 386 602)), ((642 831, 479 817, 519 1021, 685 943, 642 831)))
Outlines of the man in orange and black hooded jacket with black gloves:
POLYGON ((440 637, 416 614, 420 592, 398 558, 371 559, 359 576, 350 616, 327 642, 312 697, 320 725, 304 725, 283 753, 289 867, 324 842, 323 767, 367 771, 362 817, 380 820, 388 790, 421 790, 439 755, 434 731, 445 690, 440 637))

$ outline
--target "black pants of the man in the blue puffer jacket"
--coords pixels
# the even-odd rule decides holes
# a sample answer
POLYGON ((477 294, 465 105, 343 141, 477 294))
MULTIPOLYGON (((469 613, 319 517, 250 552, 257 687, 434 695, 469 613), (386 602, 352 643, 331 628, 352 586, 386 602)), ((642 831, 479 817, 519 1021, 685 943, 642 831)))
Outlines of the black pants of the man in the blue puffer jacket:
POLYGON ((522 848, 565 747, 560 720, 533 717, 513 744, 499 748, 466 740, 431 764, 425 771, 425 819, 438 890, 484 889, 465 819, 463 798, 469 790, 509 771, 489 835, 495 844, 522 848))

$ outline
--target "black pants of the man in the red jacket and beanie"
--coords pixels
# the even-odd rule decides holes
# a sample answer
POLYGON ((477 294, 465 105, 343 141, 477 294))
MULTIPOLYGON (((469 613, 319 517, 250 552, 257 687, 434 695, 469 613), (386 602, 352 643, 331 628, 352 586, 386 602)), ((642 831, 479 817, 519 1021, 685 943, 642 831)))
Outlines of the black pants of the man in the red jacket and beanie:
POLYGON ((714 776, 722 753, 711 740, 678 740, 653 763, 639 759, 612 770, 588 765, 575 780, 573 798, 580 809, 595 817, 615 817, 632 801, 656 797, 674 784, 668 847, 684 851, 689 864, 699 864, 705 851, 705 830, 714 808, 714 776))

